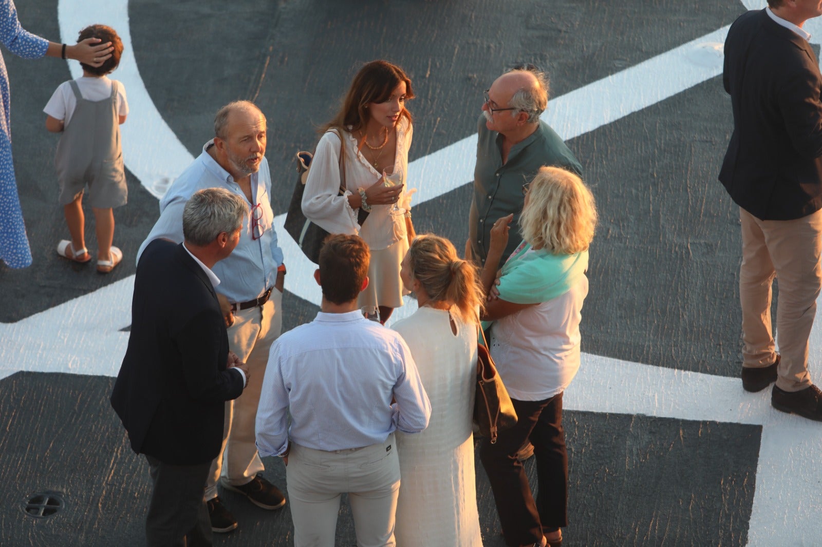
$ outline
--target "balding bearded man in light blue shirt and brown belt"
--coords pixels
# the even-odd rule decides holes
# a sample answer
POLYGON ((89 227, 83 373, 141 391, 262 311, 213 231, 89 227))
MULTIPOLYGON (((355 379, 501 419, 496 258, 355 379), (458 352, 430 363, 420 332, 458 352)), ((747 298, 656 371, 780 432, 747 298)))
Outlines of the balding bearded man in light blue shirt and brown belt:
POLYGON ((261 475, 265 470, 254 444, 254 422, 260 387, 271 344, 282 329, 285 267, 272 226, 271 177, 266 161, 266 117, 254 103, 237 101, 219 109, 215 138, 174 181, 160 200, 160 217, 145 239, 137 260, 158 238, 182 241, 182 209, 202 188, 225 188, 247 201, 250 209, 238 246, 228 259, 215 264, 222 281, 217 288, 229 327, 229 347, 251 372, 242 396, 226 403, 223 450, 211 466, 205 486, 211 528, 227 532, 237 527, 233 515, 217 497, 217 480, 228 490, 245 494, 257 506, 281 508, 283 494, 261 475), (225 457, 224 454, 225 453, 225 457))

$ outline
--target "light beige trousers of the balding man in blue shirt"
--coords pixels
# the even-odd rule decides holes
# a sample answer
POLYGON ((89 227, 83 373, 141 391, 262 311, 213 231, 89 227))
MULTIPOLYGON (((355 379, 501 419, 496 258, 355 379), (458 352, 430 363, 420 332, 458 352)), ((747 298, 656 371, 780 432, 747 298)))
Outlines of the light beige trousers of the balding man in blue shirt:
POLYGON ((283 329, 282 301, 283 294, 273 289, 262 308, 234 313, 234 324, 229 327, 229 348, 248 365, 251 377, 242 395, 225 403, 223 448, 211 464, 205 483, 205 501, 217 496, 217 480, 221 474, 230 485, 244 485, 266 469, 256 451, 254 427, 268 353, 283 329))

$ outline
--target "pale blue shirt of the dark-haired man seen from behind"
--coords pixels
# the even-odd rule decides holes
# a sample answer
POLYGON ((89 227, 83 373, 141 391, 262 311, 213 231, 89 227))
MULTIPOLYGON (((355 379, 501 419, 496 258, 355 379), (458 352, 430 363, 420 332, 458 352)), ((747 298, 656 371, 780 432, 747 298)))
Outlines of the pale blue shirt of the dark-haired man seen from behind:
POLYGON ((284 453, 289 438, 316 450, 360 448, 395 430, 418 433, 429 417, 431 403, 399 333, 359 311, 319 312, 271 346, 256 446, 261 456, 284 453))

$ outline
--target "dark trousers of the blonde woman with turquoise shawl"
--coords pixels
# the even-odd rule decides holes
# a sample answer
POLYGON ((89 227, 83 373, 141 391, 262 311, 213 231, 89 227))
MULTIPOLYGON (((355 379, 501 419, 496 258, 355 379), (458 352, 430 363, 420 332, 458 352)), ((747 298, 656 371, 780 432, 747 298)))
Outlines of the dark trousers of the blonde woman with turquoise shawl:
POLYGON ((543 540, 544 531, 568 525, 568 453, 562 430, 562 393, 543 401, 511 399, 517 423, 496 444, 483 439, 480 460, 491 482, 506 545, 543 540), (516 453, 531 439, 537 463, 537 500, 516 453))

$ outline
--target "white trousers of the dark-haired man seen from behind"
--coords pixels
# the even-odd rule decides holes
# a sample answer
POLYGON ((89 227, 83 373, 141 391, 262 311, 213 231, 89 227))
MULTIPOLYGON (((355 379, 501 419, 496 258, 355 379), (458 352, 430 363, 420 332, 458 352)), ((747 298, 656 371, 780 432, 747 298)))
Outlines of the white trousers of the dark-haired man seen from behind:
POLYGON ((326 452, 291 444, 285 468, 295 547, 334 547, 339 499, 349 494, 358 547, 394 547, 399 458, 385 443, 326 452))

